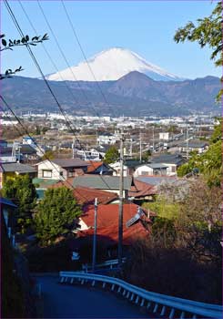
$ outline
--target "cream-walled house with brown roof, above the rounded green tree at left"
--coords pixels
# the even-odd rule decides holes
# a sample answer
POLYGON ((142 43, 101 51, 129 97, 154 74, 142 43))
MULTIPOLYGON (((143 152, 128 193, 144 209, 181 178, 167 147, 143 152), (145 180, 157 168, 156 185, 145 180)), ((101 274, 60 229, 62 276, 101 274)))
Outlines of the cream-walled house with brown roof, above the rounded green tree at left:
POLYGON ((83 175, 88 164, 80 159, 44 160, 36 164, 38 179, 67 180, 68 178, 83 175))

